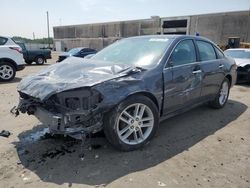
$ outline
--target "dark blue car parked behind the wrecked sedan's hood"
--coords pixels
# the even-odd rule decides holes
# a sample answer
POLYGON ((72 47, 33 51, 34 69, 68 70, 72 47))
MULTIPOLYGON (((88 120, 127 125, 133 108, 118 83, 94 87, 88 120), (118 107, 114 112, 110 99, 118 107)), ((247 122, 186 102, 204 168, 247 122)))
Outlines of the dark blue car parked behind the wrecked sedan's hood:
POLYGON ((95 54, 97 51, 91 48, 72 48, 71 50, 69 50, 68 52, 64 52, 62 54, 59 55, 59 58, 57 60, 57 62, 61 62, 64 59, 74 56, 74 57, 82 57, 84 58, 87 55, 90 54, 95 54))

